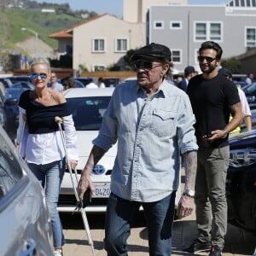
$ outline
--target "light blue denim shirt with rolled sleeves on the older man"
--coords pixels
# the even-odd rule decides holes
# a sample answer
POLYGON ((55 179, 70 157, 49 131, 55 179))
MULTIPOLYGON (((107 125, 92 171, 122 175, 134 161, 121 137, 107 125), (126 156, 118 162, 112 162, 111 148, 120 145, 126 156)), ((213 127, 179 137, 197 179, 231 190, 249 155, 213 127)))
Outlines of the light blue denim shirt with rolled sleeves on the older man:
POLYGON ((166 80, 151 97, 134 81, 119 84, 93 141, 106 151, 118 141, 113 194, 150 202, 177 190, 180 154, 198 148, 194 123, 189 97, 166 80))

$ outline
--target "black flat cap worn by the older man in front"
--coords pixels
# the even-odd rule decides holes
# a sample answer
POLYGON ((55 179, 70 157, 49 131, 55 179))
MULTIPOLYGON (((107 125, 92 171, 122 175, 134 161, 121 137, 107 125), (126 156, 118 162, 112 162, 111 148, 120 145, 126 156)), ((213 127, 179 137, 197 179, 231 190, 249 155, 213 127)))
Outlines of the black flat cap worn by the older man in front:
POLYGON ((172 61, 171 50, 165 45, 155 43, 151 43, 137 49, 137 51, 131 55, 131 61, 136 61, 137 59, 141 59, 143 57, 148 59, 172 61))

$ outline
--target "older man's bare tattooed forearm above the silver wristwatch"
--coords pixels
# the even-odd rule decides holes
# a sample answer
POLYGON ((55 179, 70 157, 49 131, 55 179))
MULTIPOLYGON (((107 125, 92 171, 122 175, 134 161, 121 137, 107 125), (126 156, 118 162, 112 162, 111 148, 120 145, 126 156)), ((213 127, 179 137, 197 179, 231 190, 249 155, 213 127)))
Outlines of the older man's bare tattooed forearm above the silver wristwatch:
POLYGON ((197 152, 189 151, 183 154, 185 168, 185 189, 195 190, 195 175, 197 168, 197 152))

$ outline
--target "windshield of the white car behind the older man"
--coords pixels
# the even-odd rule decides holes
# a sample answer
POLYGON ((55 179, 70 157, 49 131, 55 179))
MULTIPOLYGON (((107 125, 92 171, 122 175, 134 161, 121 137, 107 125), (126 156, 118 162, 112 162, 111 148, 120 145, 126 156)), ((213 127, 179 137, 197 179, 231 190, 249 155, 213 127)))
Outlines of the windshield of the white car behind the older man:
POLYGON ((73 114, 76 130, 98 131, 110 98, 110 96, 68 98, 67 106, 73 114))

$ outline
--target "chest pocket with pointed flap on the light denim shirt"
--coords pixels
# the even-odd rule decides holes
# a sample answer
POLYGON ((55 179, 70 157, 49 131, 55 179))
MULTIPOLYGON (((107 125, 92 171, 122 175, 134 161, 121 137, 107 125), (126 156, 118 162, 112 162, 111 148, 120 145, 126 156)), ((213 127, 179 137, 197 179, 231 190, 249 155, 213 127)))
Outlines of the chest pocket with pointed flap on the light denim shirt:
POLYGON ((150 130, 158 137, 171 137, 175 131, 177 113, 163 109, 154 109, 150 130))

